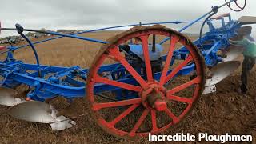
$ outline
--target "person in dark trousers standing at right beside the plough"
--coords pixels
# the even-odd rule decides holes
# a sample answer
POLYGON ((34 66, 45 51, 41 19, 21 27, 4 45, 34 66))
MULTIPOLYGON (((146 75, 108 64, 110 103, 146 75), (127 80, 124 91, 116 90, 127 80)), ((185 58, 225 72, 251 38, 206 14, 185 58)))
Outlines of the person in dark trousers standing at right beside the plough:
POLYGON ((231 44, 243 46, 245 48, 243 52, 244 60, 242 62, 242 74, 241 74, 241 93, 246 95, 248 87, 248 75, 253 69, 256 61, 256 43, 254 38, 250 36, 252 27, 244 26, 238 29, 239 39, 236 41, 230 40, 231 44))

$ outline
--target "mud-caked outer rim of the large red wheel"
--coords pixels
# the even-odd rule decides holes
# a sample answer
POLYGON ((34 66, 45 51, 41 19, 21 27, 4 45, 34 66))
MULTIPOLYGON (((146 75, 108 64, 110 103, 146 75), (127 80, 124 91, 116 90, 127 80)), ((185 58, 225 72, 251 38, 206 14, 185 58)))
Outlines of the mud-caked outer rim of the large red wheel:
MULTIPOLYGON (((202 93, 202 89, 203 89, 203 86, 204 86, 204 83, 205 83, 205 66, 204 66, 204 61, 203 61, 203 58, 202 56, 200 55, 200 53, 198 52, 197 48, 192 44, 192 42, 190 42, 190 40, 188 38, 186 38, 184 35, 179 35, 178 32, 174 31, 174 30, 170 30, 170 29, 166 29, 166 28, 163 28, 162 26, 161 27, 143 27, 143 28, 137 28, 138 30, 134 30, 134 32, 130 32, 130 34, 120 34, 121 37, 119 37, 118 40, 115 40, 114 42, 110 42, 110 45, 107 45, 107 46, 103 46, 102 48, 102 51, 98 53, 98 57, 96 58, 95 62, 93 62, 93 65, 92 67, 90 68, 90 75, 87 79, 87 85, 86 85, 86 94, 87 94, 87 100, 89 102, 89 106, 90 106, 90 110, 96 120, 96 122, 98 123, 99 126, 102 127, 103 130, 106 130, 108 133, 110 134, 114 134, 115 136, 118 136, 118 137, 125 137, 125 138, 131 138, 131 137, 134 137, 134 136, 147 136, 149 133, 151 134, 158 134, 158 133, 162 133, 164 131, 166 131, 168 128, 170 128, 171 126, 174 127, 174 126, 177 126, 178 123, 180 123, 186 116, 187 114, 190 113, 190 111, 192 110, 192 108, 194 107, 195 103, 198 102, 198 98, 200 96, 200 94, 202 93), (146 31, 146 32, 145 32, 146 31), (94 103, 94 83, 97 81, 95 79, 98 79, 96 74, 98 72, 98 69, 99 67, 102 65, 102 62, 104 61, 104 59, 107 57, 107 53, 106 53, 106 50, 110 50, 110 47, 113 47, 114 45, 118 46, 118 44, 130 39, 130 38, 135 38, 135 37, 138 37, 138 36, 141 36, 142 35, 147 35, 147 34, 162 34, 162 35, 165 35, 165 36, 174 36, 174 37, 181 37, 181 38, 178 38, 179 41, 186 47, 188 47, 187 49, 190 50, 190 54, 191 54, 191 58, 194 60, 195 62, 195 65, 197 67, 197 73, 198 75, 201 75, 200 78, 198 78, 198 84, 197 86, 195 87, 194 89, 194 94, 193 94, 193 98, 192 98, 192 101, 190 102, 190 104, 188 106, 186 106, 186 109, 183 110, 182 114, 180 114, 178 116, 178 119, 176 119, 174 121, 174 119, 172 120, 173 122, 170 122, 168 125, 166 126, 163 126, 161 128, 156 128, 156 125, 153 124, 155 120, 153 119, 156 119, 155 117, 155 112, 156 110, 154 110, 153 108, 145 108, 145 110, 143 110, 140 118, 138 119, 138 122, 140 121, 140 119, 142 119, 142 122, 143 120, 146 118, 147 115, 150 115, 151 118, 152 118, 152 130, 151 131, 148 131, 146 133, 136 133, 136 129, 135 131, 134 128, 130 131, 130 132, 127 132, 127 131, 123 131, 123 130, 119 130, 117 128, 115 128, 115 122, 117 121, 117 119, 115 118, 113 121, 111 122, 106 122, 106 120, 104 118, 102 118, 102 116, 100 114, 98 114, 98 110, 95 109, 95 103, 94 103), (171 34, 171 35, 170 35, 171 34), (143 119, 144 118, 144 119, 143 119)), ((132 31, 132 30, 131 30, 132 31)), ((120 36, 118 35, 118 36, 120 36)), ((160 80, 161 81, 161 80, 160 80)), ((160 83, 160 82, 159 82, 160 83)), ((137 87, 134 87, 134 89, 138 89, 137 87)), ((140 86, 140 91, 143 89, 143 86, 141 85, 140 86)), ((174 90, 176 91, 176 90, 174 90)), ((134 98, 131 100, 128 100, 132 103, 132 105, 124 111, 124 113, 126 113, 127 111, 129 112, 130 110, 135 110, 138 105, 141 105, 142 102, 140 102, 139 100, 140 98, 134 98)), ((127 103, 129 103, 128 101, 126 101, 127 103)), ((142 100, 141 100, 142 101, 142 100)), ((117 104, 118 102, 116 102, 117 104)), ((123 101, 123 103, 125 103, 123 101)), ((114 104, 114 103, 112 103, 114 104)), ((127 113, 128 113, 127 112, 127 113)), ((168 115, 170 117, 173 117, 172 114, 171 114, 171 111, 167 111, 166 110, 166 113, 169 113, 168 115)), ((130 113, 129 113, 130 114, 130 113)), ((122 115, 122 114, 120 114, 122 115)), ((118 116, 119 118, 122 118, 122 116, 118 116)), ((122 120, 122 119, 121 119, 122 120)), ((136 124, 139 125, 139 123, 136 122, 136 124)), ((135 125, 136 125, 135 124, 135 125)))

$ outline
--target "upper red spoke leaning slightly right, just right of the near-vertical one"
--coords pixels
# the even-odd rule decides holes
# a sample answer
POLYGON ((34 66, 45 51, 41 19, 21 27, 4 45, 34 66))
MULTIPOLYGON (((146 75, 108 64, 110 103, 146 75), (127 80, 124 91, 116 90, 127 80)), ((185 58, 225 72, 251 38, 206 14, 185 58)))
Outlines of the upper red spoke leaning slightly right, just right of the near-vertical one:
POLYGON ((168 54, 167 54, 167 57, 166 57, 166 63, 165 63, 165 66, 164 66, 164 68, 162 70, 162 75, 161 75, 160 82, 159 82, 160 86, 162 86, 164 84, 164 82, 165 82, 166 74, 167 74, 168 68, 170 66, 171 59, 173 57, 173 53, 174 53, 174 49, 175 49, 175 44, 177 42, 178 42, 178 38, 176 38, 174 36, 171 36, 170 49, 168 51, 168 54))

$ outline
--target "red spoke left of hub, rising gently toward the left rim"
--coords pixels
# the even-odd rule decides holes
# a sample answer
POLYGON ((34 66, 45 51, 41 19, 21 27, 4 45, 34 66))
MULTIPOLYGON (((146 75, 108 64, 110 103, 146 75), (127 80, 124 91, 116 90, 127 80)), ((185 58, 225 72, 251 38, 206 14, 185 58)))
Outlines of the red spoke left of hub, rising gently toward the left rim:
POLYGON ((137 91, 139 92, 141 90, 140 86, 134 86, 134 85, 130 85, 124 82, 118 82, 118 81, 114 81, 114 80, 110 80, 107 78, 102 78, 100 76, 96 76, 95 82, 99 82, 99 83, 105 83, 107 85, 111 85, 111 86, 117 86, 120 87, 122 89, 126 89, 126 90, 132 90, 132 91, 137 91))

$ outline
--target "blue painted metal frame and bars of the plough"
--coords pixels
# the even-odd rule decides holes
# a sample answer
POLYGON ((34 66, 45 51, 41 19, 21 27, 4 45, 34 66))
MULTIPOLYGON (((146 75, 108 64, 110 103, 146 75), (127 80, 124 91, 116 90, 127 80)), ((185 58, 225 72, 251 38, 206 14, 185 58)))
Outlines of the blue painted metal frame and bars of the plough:
MULTIPOLYGON (((188 27, 192 26, 196 22, 200 22, 202 18, 205 18, 210 12, 202 15, 202 17, 195 19, 192 22, 188 22, 189 24, 184 26, 181 30, 186 30, 188 27)), ((186 22, 152 22, 152 23, 142 23, 141 25, 151 25, 151 24, 166 24, 166 23, 186 23, 186 22)), ((205 58, 206 66, 214 66, 219 61, 222 61, 222 58, 218 56, 218 50, 226 49, 230 45, 228 39, 235 35, 236 29, 240 27, 238 22, 234 21, 229 17, 227 22, 222 19, 222 26, 220 28, 214 27, 213 20, 209 20, 207 22, 210 31, 207 32, 201 39, 197 39, 194 41, 194 45, 198 46, 199 50, 201 51, 202 55, 205 58), (201 45, 200 43, 207 42, 206 45, 201 45)), ((124 25, 124 26, 111 26, 96 30, 86 30, 82 31, 77 34, 93 32, 98 30, 108 30, 114 29, 119 27, 126 27, 126 26, 138 26, 138 24, 131 24, 131 25, 124 25)), ((107 43, 102 40, 94 39, 94 38, 84 38, 77 36, 76 34, 58 34, 55 32, 51 32, 51 34, 59 35, 60 37, 56 38, 48 38, 46 40, 40 42, 34 42, 34 44, 50 41, 57 38, 62 37, 69 37, 69 38, 78 38, 90 42, 100 42, 100 43, 107 43)), ((158 59, 160 58, 160 52, 162 51, 162 46, 164 42, 168 39, 164 39, 162 42, 156 45, 156 52, 157 53, 150 53, 150 58, 158 59), (159 53, 159 54, 158 54, 159 53)), ((27 46, 27 45, 26 45, 27 46)), ((141 45, 134 45, 130 44, 130 50, 134 55, 142 56, 142 46, 141 45)), ((40 65, 40 73, 41 78, 38 78, 38 66, 34 64, 24 63, 22 61, 18 61, 13 57, 13 50, 17 50, 25 46, 8 47, 8 54, 5 61, 0 62, 0 75, 2 76, 2 82, 0 82, 1 86, 6 87, 15 87, 21 84, 25 84, 30 86, 31 89, 30 93, 27 94, 28 98, 44 101, 47 98, 54 98, 58 95, 63 96, 64 98, 78 98, 84 97, 85 94, 85 80, 87 78, 88 69, 81 69, 79 66, 72 66, 72 67, 61 67, 61 66, 44 66, 40 65), (83 80, 77 80, 77 79, 83 80)), ((150 47, 150 46, 149 46, 150 47)), ((151 51, 151 50, 150 50, 151 51)), ((188 55, 188 51, 186 47, 181 47, 180 49, 174 50, 174 55, 172 58, 172 62, 170 65, 174 63, 175 59, 184 59, 188 55)), ((143 56, 142 56, 143 57, 143 56)), ((143 59, 143 58, 142 58, 143 59)), ((166 55, 162 56, 161 59, 163 61, 166 60, 166 55)), ((129 61, 130 62, 130 61, 129 61)), ((167 73, 170 74, 171 70, 167 73)), ((178 72, 176 75, 186 75, 194 72, 194 64, 189 66, 185 66, 178 72)), ((126 73, 126 69, 119 63, 111 64, 102 66, 99 69, 99 73, 102 75, 107 76, 110 79, 114 79, 118 82, 125 82, 130 84, 136 84, 137 82, 130 76, 130 74, 126 73)), ((141 74, 143 77, 143 74, 141 74)), ((161 77, 161 73, 155 73, 154 78, 158 80, 161 77)), ((102 83, 98 83, 94 86, 94 93, 101 94, 102 92, 106 91, 114 91, 116 94, 119 94, 117 99, 122 99, 120 93, 122 90, 116 86, 110 86, 102 83)), ((132 93, 126 93, 126 97, 131 98, 134 96, 132 93)))

